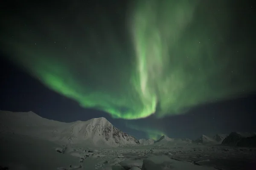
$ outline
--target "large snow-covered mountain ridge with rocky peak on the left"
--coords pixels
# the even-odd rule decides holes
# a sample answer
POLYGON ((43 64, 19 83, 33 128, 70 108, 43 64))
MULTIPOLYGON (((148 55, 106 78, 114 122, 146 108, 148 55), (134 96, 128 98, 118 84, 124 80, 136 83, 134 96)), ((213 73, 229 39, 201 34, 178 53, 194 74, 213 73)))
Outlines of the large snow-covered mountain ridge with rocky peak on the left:
POLYGON ((64 123, 42 118, 31 111, 0 111, 0 124, 0 133, 17 133, 55 142, 96 146, 139 144, 137 139, 114 127, 104 117, 64 123))

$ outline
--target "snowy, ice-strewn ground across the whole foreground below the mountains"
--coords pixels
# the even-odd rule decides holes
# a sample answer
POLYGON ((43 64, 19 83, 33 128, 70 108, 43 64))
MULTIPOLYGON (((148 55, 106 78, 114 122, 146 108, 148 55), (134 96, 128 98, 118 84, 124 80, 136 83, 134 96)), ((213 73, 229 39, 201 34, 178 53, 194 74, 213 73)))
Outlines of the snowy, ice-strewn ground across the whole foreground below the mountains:
POLYGON ((256 169, 256 148, 201 145, 89 148, 86 144, 62 146, 35 137, 1 134, 0 153, 0 170, 4 167, 8 170, 124 170, 123 167, 139 170, 143 159, 163 155, 171 158, 177 167, 189 166, 182 166, 185 169, 256 169))

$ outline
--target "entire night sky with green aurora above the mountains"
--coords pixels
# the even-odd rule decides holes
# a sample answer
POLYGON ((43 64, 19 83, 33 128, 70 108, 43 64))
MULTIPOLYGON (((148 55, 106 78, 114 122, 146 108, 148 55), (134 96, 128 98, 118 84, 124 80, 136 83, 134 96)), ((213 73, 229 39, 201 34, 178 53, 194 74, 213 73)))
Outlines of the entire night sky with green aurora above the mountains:
POLYGON ((253 1, 20 0, 0 21, 0 110, 138 139, 256 131, 253 1))

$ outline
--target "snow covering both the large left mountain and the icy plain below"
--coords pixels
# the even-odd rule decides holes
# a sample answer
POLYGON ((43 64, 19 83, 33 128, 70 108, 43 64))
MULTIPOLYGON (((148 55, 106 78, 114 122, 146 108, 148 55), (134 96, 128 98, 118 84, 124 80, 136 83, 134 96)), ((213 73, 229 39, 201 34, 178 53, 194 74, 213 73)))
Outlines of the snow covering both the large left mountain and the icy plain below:
POLYGON ((189 139, 167 136, 151 145, 131 146, 132 142, 127 140, 123 142, 125 145, 116 147, 105 139, 108 135, 100 132, 110 132, 112 136, 109 135, 108 140, 115 143, 123 135, 119 144, 133 139, 114 129, 105 118, 64 123, 44 119, 33 112, 0 111, 0 169, 210 170, 215 167, 218 170, 255 170, 256 149, 253 147, 198 145, 189 139), (114 147, 102 147, 106 144, 114 147))

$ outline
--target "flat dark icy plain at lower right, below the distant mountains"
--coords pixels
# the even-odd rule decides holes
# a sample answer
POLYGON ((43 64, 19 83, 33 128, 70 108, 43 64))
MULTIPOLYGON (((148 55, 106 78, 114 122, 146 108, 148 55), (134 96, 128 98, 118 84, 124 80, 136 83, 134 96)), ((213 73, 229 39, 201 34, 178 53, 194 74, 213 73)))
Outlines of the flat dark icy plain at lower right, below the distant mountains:
POLYGON ((184 147, 133 147, 125 150, 126 158, 147 158, 151 155, 168 155, 177 161, 215 167, 218 170, 256 170, 256 148, 190 145, 184 147), (135 152, 135 153, 132 153, 135 152))

